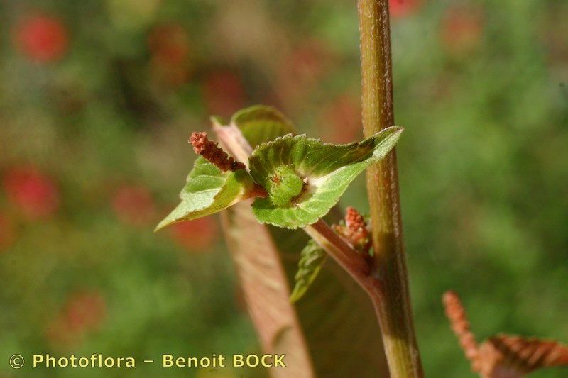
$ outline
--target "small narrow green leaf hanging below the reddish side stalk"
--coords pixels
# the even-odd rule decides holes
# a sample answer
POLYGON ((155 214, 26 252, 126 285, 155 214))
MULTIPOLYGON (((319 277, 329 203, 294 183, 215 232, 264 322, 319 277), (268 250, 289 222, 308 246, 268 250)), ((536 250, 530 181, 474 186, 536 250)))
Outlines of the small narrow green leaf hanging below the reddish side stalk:
POLYGON ((297 264, 297 273, 295 275, 296 283, 292 294, 290 294, 290 302, 295 303, 304 296, 326 261, 327 253, 315 240, 308 240, 307 245, 300 252, 300 261, 297 264))

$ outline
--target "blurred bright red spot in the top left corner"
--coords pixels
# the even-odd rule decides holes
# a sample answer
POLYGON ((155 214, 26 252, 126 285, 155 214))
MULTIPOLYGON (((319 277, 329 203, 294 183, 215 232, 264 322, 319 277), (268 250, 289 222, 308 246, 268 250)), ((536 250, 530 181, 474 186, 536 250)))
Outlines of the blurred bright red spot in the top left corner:
POLYGON ((36 62, 59 60, 67 50, 67 29, 58 18, 38 15, 24 18, 15 33, 16 45, 36 62))

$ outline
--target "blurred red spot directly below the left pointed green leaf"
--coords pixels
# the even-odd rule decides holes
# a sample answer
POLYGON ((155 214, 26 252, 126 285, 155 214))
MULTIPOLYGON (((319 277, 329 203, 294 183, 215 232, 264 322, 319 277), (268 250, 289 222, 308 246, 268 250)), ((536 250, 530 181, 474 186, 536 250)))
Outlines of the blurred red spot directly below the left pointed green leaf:
POLYGON ((217 223, 211 216, 176 223, 172 228, 172 235, 188 250, 205 252, 217 239, 217 223))

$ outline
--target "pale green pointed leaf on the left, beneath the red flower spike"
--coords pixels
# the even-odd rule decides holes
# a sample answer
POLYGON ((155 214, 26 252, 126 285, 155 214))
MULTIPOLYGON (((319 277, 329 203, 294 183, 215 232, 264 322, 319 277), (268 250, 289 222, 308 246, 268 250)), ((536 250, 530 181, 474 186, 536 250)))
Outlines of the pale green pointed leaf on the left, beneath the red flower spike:
POLYGON ((203 157, 197 157, 180 193, 182 201, 155 229, 217 213, 244 199, 253 187, 246 170, 222 172, 203 157))

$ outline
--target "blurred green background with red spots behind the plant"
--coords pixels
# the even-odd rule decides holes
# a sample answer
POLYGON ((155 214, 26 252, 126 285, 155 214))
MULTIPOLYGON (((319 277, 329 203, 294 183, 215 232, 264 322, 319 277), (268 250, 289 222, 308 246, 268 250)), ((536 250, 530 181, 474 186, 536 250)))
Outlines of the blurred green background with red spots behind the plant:
MULTIPOLYGON (((391 14, 427 376, 474 376, 447 289, 480 340, 567 342, 567 1, 391 0, 391 14)), ((0 376, 103 374, 15 371, 16 352, 258 352, 217 217, 153 226, 210 114, 270 104, 312 137, 361 138, 355 1, 4 0, 0 38, 0 376)), ((366 210, 363 177, 342 204, 366 210)), ((221 377, 104 374, 194 373, 221 377)))

